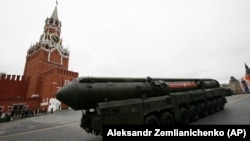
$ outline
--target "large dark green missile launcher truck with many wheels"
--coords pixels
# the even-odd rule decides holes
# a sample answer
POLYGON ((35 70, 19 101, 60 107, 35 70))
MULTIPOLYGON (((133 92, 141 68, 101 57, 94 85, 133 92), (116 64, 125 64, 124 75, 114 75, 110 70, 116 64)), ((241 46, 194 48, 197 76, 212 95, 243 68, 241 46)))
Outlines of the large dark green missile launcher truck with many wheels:
POLYGON ((187 124, 224 109, 225 95, 214 79, 79 77, 56 97, 101 134, 104 124, 187 124))

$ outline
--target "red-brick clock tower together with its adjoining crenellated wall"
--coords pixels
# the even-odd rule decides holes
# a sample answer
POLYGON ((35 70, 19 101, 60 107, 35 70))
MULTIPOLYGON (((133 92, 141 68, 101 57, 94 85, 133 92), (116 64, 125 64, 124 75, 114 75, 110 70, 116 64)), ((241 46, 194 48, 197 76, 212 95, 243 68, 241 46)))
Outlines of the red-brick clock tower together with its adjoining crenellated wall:
POLYGON ((50 110, 56 91, 78 77, 78 72, 68 70, 69 50, 63 47, 61 26, 56 6, 45 20, 40 40, 27 51, 23 75, 0 74, 0 112, 50 110))

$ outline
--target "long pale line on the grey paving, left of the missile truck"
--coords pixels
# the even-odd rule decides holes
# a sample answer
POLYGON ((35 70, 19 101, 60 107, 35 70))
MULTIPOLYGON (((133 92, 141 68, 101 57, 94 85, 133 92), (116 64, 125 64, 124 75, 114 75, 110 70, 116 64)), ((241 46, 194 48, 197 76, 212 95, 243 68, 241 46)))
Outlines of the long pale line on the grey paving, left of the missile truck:
POLYGON ((79 123, 78 123, 78 122, 77 122, 77 123, 69 123, 69 124, 58 125, 58 126, 54 126, 54 127, 47 127, 47 128, 43 128, 43 129, 37 129, 37 130, 32 130, 32 131, 26 131, 26 132, 22 132, 22 133, 14 133, 14 134, 11 134, 11 135, 0 136, 0 138, 6 138, 6 137, 13 137, 13 136, 25 135, 25 134, 35 133, 35 132, 46 131, 46 130, 50 130, 50 129, 56 129, 56 128, 62 128, 62 127, 72 126, 72 125, 76 125, 76 124, 79 124, 79 123))

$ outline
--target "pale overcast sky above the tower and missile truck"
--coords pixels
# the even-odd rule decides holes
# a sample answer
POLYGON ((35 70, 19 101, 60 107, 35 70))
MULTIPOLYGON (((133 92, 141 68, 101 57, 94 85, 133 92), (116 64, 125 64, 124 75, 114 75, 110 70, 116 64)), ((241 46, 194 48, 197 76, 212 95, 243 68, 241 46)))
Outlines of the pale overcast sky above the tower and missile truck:
MULTIPOLYGON (((0 71, 23 74, 55 0, 1 0, 0 71)), ((249 0, 58 0, 80 76, 214 78, 250 66, 249 0)))

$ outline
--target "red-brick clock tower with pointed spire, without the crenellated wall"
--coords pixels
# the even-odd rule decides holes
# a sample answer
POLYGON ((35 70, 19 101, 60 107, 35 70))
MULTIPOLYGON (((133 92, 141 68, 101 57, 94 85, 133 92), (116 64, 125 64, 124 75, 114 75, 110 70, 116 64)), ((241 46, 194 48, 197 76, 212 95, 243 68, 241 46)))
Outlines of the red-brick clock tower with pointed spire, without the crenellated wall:
POLYGON ((60 87, 78 77, 77 72, 68 70, 69 50, 63 47, 61 27, 56 5, 45 20, 39 41, 27 51, 23 73, 30 78, 27 98, 40 97, 41 106, 47 105, 60 87))

